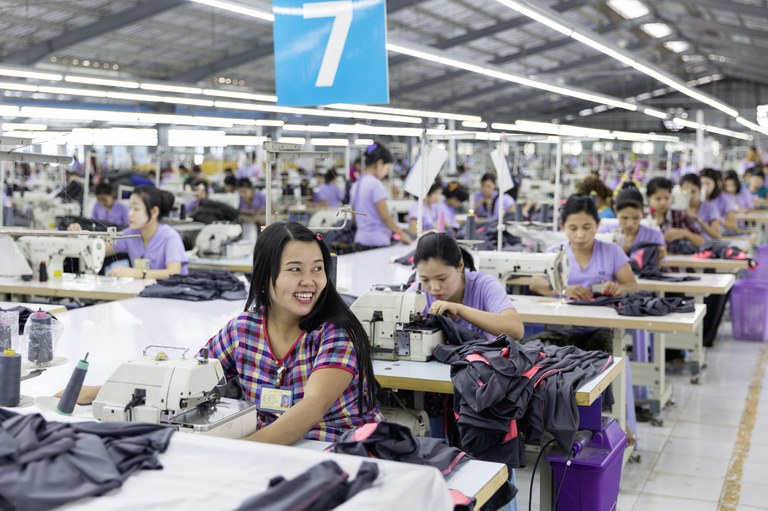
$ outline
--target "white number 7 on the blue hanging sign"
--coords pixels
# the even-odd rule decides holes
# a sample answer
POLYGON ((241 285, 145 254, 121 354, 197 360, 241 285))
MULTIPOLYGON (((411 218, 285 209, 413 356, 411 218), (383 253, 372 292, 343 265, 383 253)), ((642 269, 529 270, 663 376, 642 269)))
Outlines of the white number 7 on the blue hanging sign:
POLYGON ((331 36, 328 38, 328 46, 325 47, 323 62, 320 64, 320 72, 315 81, 315 87, 331 87, 336 79, 336 71, 339 69, 341 54, 344 44, 347 42, 349 27, 352 25, 352 12, 354 7, 350 0, 340 2, 316 2, 304 4, 304 18, 333 18, 331 36))

